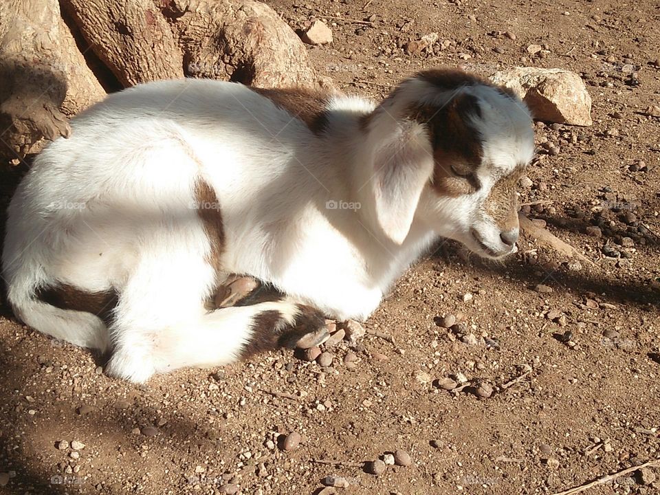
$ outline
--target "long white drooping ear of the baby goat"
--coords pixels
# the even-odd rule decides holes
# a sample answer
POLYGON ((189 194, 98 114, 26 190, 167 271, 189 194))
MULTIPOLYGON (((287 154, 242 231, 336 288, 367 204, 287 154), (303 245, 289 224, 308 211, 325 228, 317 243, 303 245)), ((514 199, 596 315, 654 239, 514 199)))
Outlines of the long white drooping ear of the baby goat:
POLYGON ((395 243, 406 239, 421 192, 433 173, 428 135, 408 122, 377 149, 373 175, 376 218, 395 243))

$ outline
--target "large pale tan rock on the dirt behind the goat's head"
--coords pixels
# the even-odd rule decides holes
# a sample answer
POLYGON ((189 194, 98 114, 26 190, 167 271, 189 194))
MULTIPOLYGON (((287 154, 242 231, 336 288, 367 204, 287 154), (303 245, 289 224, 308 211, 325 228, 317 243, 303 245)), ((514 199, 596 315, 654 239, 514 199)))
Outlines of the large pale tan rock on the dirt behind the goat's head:
POLYGON ((537 120, 580 126, 593 124, 591 96, 575 72, 514 67, 496 72, 490 80, 516 91, 537 120))

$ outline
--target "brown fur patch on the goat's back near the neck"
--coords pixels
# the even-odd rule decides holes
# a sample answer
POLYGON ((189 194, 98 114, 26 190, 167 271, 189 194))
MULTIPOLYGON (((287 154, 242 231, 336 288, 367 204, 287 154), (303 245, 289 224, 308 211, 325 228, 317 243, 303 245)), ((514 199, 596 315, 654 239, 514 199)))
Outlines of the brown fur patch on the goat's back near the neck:
POLYGON ((330 96, 329 93, 304 88, 264 89, 253 87, 250 89, 271 100, 276 107, 286 110, 298 120, 305 122, 314 134, 320 135, 327 128, 326 102, 330 96))

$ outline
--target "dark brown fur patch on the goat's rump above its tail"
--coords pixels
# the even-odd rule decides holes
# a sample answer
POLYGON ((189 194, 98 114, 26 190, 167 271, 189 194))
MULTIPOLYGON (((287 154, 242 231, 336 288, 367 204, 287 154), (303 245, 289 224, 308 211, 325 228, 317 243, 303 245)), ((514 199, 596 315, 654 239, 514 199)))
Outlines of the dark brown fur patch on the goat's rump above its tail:
POLYGON ((61 284, 43 287, 36 292, 36 297, 46 304, 60 309, 84 311, 98 316, 109 325, 113 317, 113 309, 118 302, 118 294, 114 290, 104 292, 85 292, 73 285, 61 284))

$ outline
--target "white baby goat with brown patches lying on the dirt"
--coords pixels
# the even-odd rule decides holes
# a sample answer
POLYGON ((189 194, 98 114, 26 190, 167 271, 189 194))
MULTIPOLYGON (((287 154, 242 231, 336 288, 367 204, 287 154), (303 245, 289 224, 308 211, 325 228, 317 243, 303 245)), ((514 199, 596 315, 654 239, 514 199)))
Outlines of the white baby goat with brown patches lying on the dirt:
POLYGON ((18 318, 111 351, 134 382, 362 320, 439 236, 515 252, 533 154, 516 96, 451 69, 380 104, 167 80, 108 96, 36 158, 8 209, 18 318), (229 274, 282 296, 208 309, 229 274))

